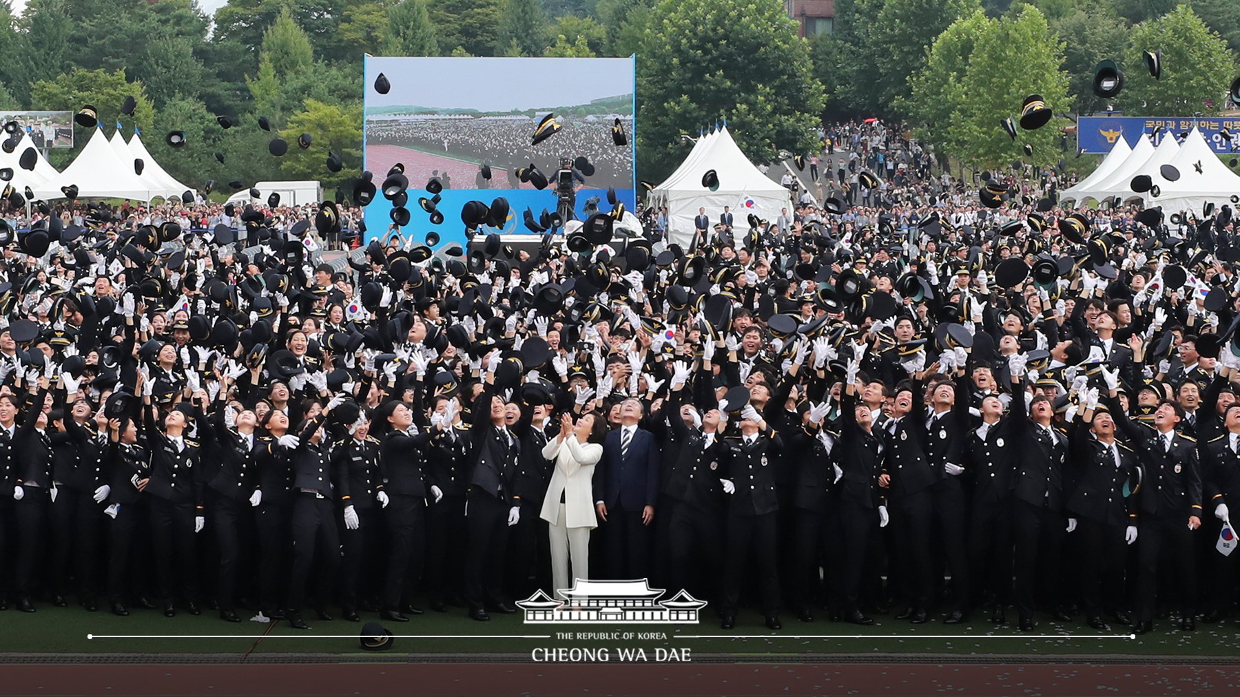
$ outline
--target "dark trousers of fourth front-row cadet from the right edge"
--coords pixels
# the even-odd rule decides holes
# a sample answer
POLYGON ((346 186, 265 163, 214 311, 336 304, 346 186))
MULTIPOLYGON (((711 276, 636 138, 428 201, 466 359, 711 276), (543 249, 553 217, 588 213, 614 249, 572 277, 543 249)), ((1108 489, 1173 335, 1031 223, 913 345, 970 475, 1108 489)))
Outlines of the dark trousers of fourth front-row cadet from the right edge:
POLYGON ((1063 599, 1059 564, 1064 549, 1064 528, 1068 517, 1063 511, 1034 506, 1013 499, 1012 537, 1016 552, 1016 606, 1022 618, 1032 618, 1038 606, 1037 588, 1039 569, 1050 580, 1050 602, 1059 605, 1063 599))

